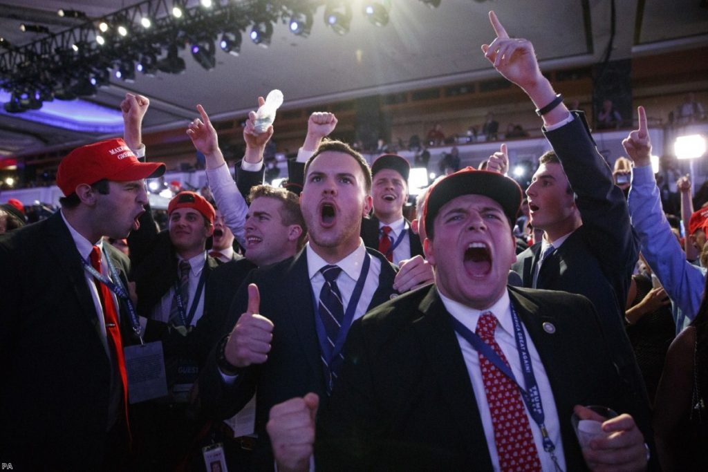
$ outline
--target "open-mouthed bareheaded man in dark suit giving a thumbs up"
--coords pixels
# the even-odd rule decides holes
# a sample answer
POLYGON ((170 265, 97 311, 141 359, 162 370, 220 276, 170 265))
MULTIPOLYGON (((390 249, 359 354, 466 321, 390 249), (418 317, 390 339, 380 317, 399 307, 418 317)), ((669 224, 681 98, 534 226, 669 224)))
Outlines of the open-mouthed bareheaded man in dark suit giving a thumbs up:
POLYGON ((256 392, 253 464, 259 469, 273 467, 265 433, 270 407, 308 391, 326 398, 341 364, 348 320, 394 294, 394 267, 366 251, 359 236, 361 217, 371 209, 367 163, 346 144, 327 142, 305 173, 300 202, 309 242, 294 258, 258 268, 241 284, 231 309, 234 329, 200 377, 202 406, 220 418, 236 413, 256 392), (330 270, 336 277, 328 282, 323 272, 330 270), (336 311, 330 305, 335 291, 340 314, 348 318, 338 318, 341 332, 333 333, 325 323, 328 309, 336 311), (336 349, 327 347, 329 341, 336 349))

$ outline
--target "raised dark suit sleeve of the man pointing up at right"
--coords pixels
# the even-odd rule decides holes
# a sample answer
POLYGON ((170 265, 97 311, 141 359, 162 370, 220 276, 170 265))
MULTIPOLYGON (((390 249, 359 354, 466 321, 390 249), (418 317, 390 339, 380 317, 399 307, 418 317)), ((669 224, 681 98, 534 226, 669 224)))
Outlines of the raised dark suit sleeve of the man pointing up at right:
POLYGON ((617 294, 620 307, 627 299, 629 277, 639 257, 639 248, 629 221, 629 209, 622 189, 595 147, 584 113, 573 112, 575 120, 553 131, 547 139, 563 164, 576 205, 588 231, 587 242, 617 294))

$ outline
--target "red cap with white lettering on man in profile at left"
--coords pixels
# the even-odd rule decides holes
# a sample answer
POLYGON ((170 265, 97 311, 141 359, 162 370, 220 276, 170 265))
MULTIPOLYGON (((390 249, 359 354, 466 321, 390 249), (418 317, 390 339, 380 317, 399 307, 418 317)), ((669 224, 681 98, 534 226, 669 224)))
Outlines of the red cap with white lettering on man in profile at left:
POLYGON ((138 161, 125 141, 115 138, 71 151, 59 163, 57 185, 64 196, 69 196, 82 183, 92 185, 103 179, 129 182, 156 178, 164 173, 164 163, 138 161))

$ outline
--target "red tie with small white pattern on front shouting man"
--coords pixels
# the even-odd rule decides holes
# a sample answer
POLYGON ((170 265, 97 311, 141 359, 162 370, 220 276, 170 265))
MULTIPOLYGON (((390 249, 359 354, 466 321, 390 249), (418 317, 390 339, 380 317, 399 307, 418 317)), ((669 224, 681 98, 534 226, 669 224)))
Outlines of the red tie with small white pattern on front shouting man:
MULTIPOLYGON (((494 315, 485 311, 479 316, 475 332, 508 365, 501 347, 494 340, 496 323, 494 315)), ((479 368, 489 402, 499 468, 501 471, 540 471, 541 461, 518 387, 481 354, 479 368)))

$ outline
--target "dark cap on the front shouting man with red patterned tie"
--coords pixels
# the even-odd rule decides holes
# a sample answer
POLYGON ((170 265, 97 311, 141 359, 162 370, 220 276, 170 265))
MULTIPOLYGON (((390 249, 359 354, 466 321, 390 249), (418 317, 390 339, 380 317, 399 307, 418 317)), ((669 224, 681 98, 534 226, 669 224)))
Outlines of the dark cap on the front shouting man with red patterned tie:
POLYGON ((519 212, 523 192, 515 180, 501 173, 477 171, 472 167, 451 173, 438 180, 428 190, 423 207, 423 222, 428 235, 433 234, 433 222, 440 208, 462 195, 484 195, 491 198, 501 205, 510 224, 513 224, 519 212))

